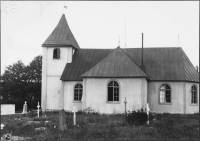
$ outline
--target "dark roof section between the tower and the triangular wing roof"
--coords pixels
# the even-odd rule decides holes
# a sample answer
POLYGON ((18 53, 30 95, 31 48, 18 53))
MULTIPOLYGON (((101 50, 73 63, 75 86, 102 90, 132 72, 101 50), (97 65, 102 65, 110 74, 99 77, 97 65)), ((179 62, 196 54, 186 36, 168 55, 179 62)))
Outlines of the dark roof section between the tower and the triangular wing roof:
POLYGON ((81 75, 105 58, 113 49, 78 49, 66 64, 61 80, 82 81, 81 75))

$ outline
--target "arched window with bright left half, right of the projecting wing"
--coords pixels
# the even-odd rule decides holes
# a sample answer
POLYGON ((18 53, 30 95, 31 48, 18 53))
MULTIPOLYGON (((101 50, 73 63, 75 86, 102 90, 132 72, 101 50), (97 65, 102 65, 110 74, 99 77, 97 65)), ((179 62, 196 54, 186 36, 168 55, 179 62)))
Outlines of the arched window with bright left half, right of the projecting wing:
POLYGON ((171 88, 167 84, 160 87, 160 103, 171 103, 171 88))

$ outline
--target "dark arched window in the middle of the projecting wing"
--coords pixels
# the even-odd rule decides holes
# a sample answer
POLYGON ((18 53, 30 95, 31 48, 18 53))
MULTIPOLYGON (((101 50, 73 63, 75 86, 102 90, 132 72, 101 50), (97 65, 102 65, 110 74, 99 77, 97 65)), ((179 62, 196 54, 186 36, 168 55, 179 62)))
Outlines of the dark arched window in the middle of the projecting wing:
POLYGON ((119 101, 119 84, 116 81, 108 83, 108 101, 119 101))

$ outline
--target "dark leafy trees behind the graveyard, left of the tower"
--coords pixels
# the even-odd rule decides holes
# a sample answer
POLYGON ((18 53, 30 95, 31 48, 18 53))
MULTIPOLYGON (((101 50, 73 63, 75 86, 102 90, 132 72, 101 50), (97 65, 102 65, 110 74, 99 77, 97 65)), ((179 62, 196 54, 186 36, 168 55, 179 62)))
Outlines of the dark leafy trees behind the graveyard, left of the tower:
POLYGON ((1 76, 1 103, 14 103, 16 109, 22 109, 27 101, 28 108, 36 108, 41 102, 41 77, 41 55, 27 66, 22 61, 9 65, 1 76))

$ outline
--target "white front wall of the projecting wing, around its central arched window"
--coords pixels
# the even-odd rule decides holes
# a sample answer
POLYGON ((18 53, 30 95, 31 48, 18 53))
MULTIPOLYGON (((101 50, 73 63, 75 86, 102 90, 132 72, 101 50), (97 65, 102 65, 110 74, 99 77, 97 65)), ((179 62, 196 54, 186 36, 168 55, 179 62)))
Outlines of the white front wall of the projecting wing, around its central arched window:
POLYGON ((140 109, 146 105, 147 81, 144 78, 84 78, 83 109, 92 108, 100 113, 123 113, 126 97, 127 110, 140 109), (107 84, 111 80, 119 83, 119 102, 107 102, 107 84))

